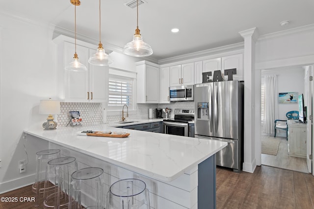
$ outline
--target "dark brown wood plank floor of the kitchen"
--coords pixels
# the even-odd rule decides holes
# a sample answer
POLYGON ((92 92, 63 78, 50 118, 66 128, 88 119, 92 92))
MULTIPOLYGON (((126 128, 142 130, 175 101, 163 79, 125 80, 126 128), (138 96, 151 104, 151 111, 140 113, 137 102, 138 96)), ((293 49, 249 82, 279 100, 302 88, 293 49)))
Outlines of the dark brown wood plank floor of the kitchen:
MULTIPOLYGON (((314 209, 312 174, 264 165, 254 174, 217 168, 216 182, 217 209, 314 209)), ((0 197, 34 197, 34 193, 30 185, 0 197)), ((32 202, 0 202, 0 209, 35 209, 33 206, 32 202)))

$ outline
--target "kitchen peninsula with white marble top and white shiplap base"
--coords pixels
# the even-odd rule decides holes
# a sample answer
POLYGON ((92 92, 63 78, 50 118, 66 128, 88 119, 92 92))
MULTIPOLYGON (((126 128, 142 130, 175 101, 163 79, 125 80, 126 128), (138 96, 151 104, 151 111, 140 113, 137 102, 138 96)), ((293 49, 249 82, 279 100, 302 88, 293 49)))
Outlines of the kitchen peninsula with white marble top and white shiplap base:
POLYGON ((27 140, 47 141, 47 149, 76 157, 80 167, 105 171, 105 185, 141 179, 150 191, 152 209, 216 207, 215 153, 226 142, 136 131, 109 125, 24 131, 27 140), (126 138, 82 136, 80 131, 125 131, 126 138))

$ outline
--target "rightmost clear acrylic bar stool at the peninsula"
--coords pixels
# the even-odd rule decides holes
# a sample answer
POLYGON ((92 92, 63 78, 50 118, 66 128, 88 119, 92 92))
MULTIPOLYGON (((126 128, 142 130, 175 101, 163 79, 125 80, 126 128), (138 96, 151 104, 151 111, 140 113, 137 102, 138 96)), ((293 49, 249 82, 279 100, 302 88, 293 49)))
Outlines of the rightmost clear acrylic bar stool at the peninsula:
POLYGON ((151 208, 145 182, 139 179, 123 179, 110 186, 106 209, 144 208, 151 208))

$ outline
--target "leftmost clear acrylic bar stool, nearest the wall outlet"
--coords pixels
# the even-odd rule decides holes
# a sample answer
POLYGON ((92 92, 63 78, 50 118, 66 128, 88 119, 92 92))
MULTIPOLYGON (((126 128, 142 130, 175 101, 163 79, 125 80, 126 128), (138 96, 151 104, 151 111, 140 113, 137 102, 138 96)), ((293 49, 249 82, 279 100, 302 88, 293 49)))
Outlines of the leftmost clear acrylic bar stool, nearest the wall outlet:
POLYGON ((36 153, 36 175, 35 175, 35 183, 32 185, 32 191, 36 193, 35 195, 35 205, 34 207, 38 207, 40 194, 44 193, 44 184, 46 177, 46 165, 47 162, 53 158, 60 157, 60 150, 52 149, 52 150, 42 150, 36 153))

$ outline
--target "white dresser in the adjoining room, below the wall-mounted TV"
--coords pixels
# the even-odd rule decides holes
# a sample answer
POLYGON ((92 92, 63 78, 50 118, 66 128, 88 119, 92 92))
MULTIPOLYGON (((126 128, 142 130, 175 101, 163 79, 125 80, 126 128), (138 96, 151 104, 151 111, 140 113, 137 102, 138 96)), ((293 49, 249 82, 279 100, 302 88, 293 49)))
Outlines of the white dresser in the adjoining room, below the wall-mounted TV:
POLYGON ((288 155, 306 158, 306 124, 288 120, 288 155))

